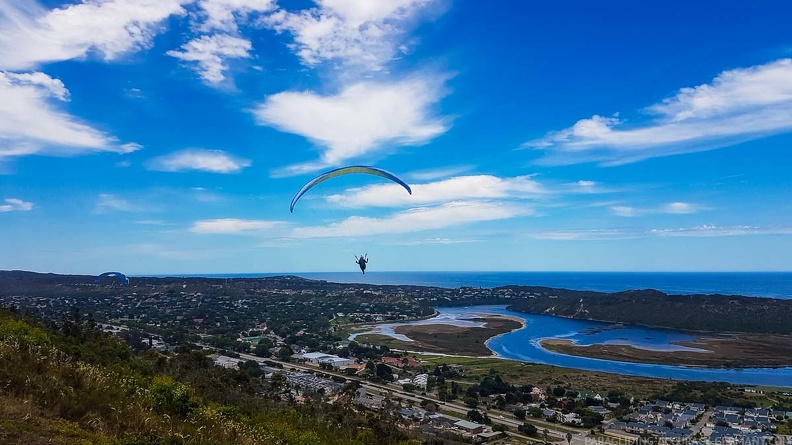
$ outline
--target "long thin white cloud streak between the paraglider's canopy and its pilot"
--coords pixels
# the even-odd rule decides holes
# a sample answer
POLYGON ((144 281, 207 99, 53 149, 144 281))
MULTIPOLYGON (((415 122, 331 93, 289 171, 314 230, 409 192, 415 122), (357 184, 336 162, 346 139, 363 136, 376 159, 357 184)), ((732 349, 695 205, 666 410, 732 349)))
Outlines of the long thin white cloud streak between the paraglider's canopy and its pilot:
POLYGON ((409 233, 509 219, 530 213, 530 209, 514 204, 450 202, 436 207, 405 210, 384 218, 353 216, 327 226, 298 227, 292 230, 291 237, 303 239, 409 233))

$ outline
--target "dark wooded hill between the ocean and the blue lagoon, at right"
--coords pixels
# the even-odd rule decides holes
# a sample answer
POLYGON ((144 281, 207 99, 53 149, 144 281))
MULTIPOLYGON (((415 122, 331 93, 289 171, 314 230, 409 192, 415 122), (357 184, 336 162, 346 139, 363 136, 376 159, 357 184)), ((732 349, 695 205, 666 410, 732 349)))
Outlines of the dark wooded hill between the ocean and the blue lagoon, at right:
POLYGON ((792 300, 739 295, 668 295, 654 289, 616 293, 506 286, 523 295, 509 309, 531 314, 672 329, 792 334, 792 300))

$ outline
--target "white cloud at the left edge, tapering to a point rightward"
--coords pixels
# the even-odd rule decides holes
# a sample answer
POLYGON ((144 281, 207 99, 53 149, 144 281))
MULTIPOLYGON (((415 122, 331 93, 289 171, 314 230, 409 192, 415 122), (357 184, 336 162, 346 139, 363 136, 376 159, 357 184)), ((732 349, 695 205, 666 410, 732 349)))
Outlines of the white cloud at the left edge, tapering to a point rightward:
POLYGON ((115 138, 58 110, 66 100, 63 83, 44 73, 0 71, 0 158, 31 154, 75 155, 84 152, 129 153, 137 144, 115 138))

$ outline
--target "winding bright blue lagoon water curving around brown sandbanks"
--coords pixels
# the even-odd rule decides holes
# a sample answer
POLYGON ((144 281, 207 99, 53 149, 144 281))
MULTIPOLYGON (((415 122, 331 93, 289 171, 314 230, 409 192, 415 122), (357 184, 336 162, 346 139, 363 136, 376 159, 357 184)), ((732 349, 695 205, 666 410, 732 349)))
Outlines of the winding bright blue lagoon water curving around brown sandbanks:
MULTIPOLYGON (((693 368, 657 364, 642 364, 576 357, 548 351, 539 341, 548 338, 570 340, 578 345, 623 344, 655 350, 691 350, 673 344, 691 341, 695 334, 666 329, 622 326, 586 320, 573 320, 549 315, 524 314, 510 311, 505 306, 438 307, 439 315, 428 320, 379 325, 374 331, 404 340, 394 334, 393 328, 401 325, 454 324, 480 326, 481 323, 465 320, 480 314, 504 315, 519 318, 525 326, 516 331, 490 339, 487 347, 499 358, 521 362, 555 365, 566 368, 602 371, 644 377, 676 380, 702 380, 736 384, 791 386, 792 367, 787 368, 693 368)), ((359 334, 358 334, 359 335, 359 334)), ((353 339, 350 337, 350 339, 353 339)))

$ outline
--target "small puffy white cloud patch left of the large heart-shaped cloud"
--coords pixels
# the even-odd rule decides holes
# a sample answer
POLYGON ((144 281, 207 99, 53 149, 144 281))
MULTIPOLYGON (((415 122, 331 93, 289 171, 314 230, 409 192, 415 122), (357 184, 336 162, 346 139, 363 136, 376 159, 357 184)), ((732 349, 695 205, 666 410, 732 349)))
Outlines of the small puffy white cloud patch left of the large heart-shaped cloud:
POLYGON ((252 46, 249 40, 227 34, 213 34, 193 39, 181 46, 181 51, 167 54, 185 62, 194 62, 195 70, 206 83, 225 80, 229 59, 248 59, 252 46))

